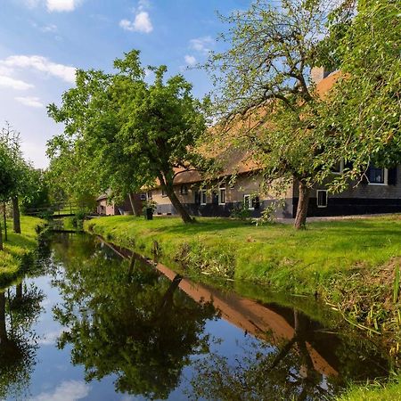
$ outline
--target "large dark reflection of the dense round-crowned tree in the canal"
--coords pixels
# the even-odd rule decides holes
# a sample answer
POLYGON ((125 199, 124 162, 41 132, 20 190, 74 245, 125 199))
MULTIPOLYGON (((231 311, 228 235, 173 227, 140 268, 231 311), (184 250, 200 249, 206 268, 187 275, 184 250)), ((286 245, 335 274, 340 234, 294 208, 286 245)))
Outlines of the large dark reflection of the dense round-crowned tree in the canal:
POLYGON ((71 247, 70 258, 60 255, 63 303, 54 315, 68 331, 59 347, 73 346, 72 363, 85 366, 86 381, 114 373, 119 392, 168 397, 190 356, 209 350, 202 332, 215 308, 177 291, 179 275, 170 282, 139 259, 128 264, 98 249, 78 260, 71 247))

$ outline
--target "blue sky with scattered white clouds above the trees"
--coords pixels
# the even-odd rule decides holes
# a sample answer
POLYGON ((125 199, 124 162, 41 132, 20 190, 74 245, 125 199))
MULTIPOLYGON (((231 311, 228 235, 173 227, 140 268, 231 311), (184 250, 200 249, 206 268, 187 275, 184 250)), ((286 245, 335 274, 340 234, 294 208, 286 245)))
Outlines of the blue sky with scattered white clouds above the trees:
POLYGON ((0 127, 20 132, 26 159, 46 168, 46 141, 62 132, 47 117, 74 86, 75 69, 112 71, 132 49, 143 66, 165 64, 202 97, 211 89, 202 70, 226 29, 217 12, 247 9, 250 0, 0 0, 0 127))

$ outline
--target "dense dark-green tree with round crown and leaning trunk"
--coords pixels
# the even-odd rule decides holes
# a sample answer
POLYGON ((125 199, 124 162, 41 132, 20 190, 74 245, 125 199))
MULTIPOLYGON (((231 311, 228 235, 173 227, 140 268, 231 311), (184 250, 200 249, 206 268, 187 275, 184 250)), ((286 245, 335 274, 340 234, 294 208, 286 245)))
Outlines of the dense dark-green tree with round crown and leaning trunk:
POLYGON ((79 70, 77 87, 63 94, 61 107, 49 106, 49 115, 65 124, 64 134, 49 143, 49 155, 66 166, 74 160, 70 171, 81 190, 92 184, 127 196, 159 180, 184 223, 191 223, 173 181, 176 168, 189 168, 205 130, 192 86, 181 75, 165 82, 165 66, 149 68, 155 79, 147 84, 135 50, 114 67, 114 74, 79 70))

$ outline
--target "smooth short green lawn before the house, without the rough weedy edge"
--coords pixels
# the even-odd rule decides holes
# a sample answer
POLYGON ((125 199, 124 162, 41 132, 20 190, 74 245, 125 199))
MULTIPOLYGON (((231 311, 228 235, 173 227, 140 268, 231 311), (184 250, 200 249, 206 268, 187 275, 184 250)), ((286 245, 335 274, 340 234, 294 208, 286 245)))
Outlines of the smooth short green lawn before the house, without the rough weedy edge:
POLYGON ((205 265, 208 258, 209 263, 220 258, 221 264, 233 265, 235 278, 269 282, 284 291, 315 292, 332 274, 401 257, 400 216, 311 223, 300 232, 291 225, 255 226, 223 218, 183 225, 174 217, 103 217, 86 222, 88 227, 145 254, 158 241, 162 258, 171 261, 182 254, 187 261, 195 254, 205 265))

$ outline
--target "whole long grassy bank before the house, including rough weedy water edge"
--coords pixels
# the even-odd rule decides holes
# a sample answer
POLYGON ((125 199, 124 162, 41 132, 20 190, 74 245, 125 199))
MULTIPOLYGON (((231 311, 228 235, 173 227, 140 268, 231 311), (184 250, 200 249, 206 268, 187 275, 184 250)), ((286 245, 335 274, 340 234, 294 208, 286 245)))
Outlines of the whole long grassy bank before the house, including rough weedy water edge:
POLYGON ((345 317, 372 331, 390 333, 397 351, 401 304, 401 217, 255 226, 223 218, 103 217, 86 230, 190 274, 263 282, 272 290, 319 294, 345 317))

